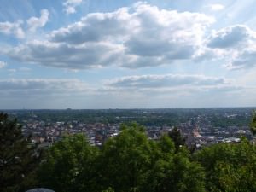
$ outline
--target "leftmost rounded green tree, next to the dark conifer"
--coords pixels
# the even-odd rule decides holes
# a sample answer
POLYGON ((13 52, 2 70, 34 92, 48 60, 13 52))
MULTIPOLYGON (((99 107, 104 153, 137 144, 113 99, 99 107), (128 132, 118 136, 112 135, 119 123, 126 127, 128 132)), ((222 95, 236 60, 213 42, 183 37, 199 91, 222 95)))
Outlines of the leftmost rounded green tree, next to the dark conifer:
POLYGON ((49 148, 39 167, 40 185, 61 192, 98 191, 97 156, 98 149, 90 146, 84 134, 63 137, 49 148))

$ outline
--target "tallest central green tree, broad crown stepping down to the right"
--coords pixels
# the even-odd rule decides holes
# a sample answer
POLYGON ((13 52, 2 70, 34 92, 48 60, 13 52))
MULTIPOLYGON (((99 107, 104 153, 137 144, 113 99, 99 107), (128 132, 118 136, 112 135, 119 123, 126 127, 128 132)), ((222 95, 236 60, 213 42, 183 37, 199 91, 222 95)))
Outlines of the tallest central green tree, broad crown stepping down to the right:
POLYGON ((176 148, 166 135, 148 140, 143 127, 123 126, 102 148, 102 180, 114 191, 203 192, 204 171, 191 162, 186 148, 176 148), (193 176, 193 177, 191 177, 193 176))

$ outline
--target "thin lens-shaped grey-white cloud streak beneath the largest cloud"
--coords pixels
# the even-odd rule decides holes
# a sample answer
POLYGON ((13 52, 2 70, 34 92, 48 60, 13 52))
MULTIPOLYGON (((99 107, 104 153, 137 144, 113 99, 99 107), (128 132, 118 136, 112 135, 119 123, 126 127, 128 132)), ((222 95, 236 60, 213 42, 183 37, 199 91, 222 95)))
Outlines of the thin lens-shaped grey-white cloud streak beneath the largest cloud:
POLYGON ((190 74, 140 75, 127 76, 120 79, 108 80, 105 85, 117 89, 160 90, 178 88, 216 88, 230 85, 231 79, 207 77, 190 74))

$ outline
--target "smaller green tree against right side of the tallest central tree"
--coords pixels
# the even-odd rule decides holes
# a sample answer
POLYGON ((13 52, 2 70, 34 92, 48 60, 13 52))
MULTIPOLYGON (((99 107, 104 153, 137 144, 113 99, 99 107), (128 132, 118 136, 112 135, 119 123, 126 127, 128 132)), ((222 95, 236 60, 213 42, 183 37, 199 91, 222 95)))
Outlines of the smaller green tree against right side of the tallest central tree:
POLYGON ((148 188, 144 191, 156 192, 203 192, 205 174, 197 162, 190 160, 188 149, 179 148, 176 152, 171 138, 163 136, 158 142, 160 156, 148 177, 148 188), (191 177, 193 176, 193 177, 191 177))

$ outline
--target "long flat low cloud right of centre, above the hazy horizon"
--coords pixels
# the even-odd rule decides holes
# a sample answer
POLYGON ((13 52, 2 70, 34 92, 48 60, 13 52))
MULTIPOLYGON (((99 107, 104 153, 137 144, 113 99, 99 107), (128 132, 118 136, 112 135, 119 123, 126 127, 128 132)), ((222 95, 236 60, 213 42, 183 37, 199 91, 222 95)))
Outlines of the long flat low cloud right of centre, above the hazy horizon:
POLYGON ((211 91, 236 91, 243 89, 233 79, 190 74, 138 75, 111 79, 105 82, 106 90, 140 92, 143 94, 196 95, 211 91))

